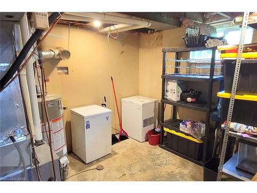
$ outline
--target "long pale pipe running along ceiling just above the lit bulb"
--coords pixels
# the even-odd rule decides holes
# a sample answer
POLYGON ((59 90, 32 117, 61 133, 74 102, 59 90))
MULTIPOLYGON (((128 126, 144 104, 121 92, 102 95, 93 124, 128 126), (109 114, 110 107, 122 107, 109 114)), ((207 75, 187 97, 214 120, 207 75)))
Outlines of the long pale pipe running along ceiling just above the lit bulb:
POLYGON ((98 13, 98 12, 83 12, 83 13, 81 13, 81 12, 65 12, 65 15, 66 14, 88 17, 90 19, 95 19, 95 20, 112 21, 113 23, 141 25, 144 27, 151 26, 150 21, 131 19, 129 17, 116 16, 116 15, 110 15, 110 14, 98 13))

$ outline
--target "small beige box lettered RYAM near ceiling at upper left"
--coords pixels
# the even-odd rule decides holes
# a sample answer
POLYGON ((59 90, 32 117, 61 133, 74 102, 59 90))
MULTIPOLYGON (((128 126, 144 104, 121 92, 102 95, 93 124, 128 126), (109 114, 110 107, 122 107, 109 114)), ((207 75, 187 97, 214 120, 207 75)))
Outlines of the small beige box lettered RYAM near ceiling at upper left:
POLYGON ((33 12, 33 25, 36 29, 49 29, 47 12, 33 12))

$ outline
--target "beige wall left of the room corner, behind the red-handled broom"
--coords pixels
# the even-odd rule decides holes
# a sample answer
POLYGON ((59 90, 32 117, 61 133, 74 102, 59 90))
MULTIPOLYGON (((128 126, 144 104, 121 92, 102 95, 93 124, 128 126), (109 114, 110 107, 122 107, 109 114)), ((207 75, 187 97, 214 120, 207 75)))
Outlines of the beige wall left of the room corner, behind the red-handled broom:
MULTIPOLYGON (((45 62, 49 94, 62 95, 66 139, 68 151, 71 147, 70 111, 71 108, 101 105, 103 96, 107 99, 107 108, 113 111, 113 127, 119 129, 118 117, 114 116, 114 100, 111 76, 114 77, 116 93, 120 99, 138 94, 138 36, 123 33, 119 40, 95 31, 70 28, 57 25, 43 42, 43 50, 56 47, 68 49, 68 60, 50 60, 45 62), (68 66, 69 74, 57 72, 57 66, 68 66), (117 127, 116 127, 117 126, 117 127)), ((116 112, 116 109, 115 109, 116 112)), ((115 113, 116 114, 116 113, 115 113)))

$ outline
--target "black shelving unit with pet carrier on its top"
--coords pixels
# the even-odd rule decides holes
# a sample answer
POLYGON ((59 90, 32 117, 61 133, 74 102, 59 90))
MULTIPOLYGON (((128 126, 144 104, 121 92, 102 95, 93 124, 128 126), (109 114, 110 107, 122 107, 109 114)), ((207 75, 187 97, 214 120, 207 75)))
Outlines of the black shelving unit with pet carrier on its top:
MULTIPOLYGON (((217 107, 216 103, 212 102, 212 87, 213 82, 219 81, 223 82, 224 77, 222 75, 214 76, 214 66, 215 66, 215 51, 216 48, 206 48, 206 47, 183 47, 183 48, 163 48, 162 49, 162 94, 161 94, 161 116, 160 116, 160 125, 161 125, 161 136, 160 136, 160 144, 159 147, 162 149, 165 149, 167 151, 170 151, 180 157, 183 157, 184 159, 187 159, 197 165, 203 165, 211 156, 212 147, 210 143, 210 136, 213 133, 213 131, 210 130, 210 113, 214 111, 217 107), (201 75, 201 74, 179 74, 178 68, 180 65, 180 56, 181 52, 189 52, 189 51, 197 51, 197 50, 211 50, 212 51, 212 57, 209 62, 209 75, 201 75), (175 52, 175 59, 172 61, 175 61, 174 65, 174 73, 173 74, 167 74, 167 53, 175 52), (207 96, 207 103, 186 103, 184 101, 171 101, 164 98, 165 95, 165 80, 166 79, 172 79, 172 80, 182 80, 182 81, 197 81, 197 82, 206 82, 208 85, 208 96, 207 96), (172 118, 168 120, 164 120, 164 104, 171 104, 172 105, 172 118), (196 111, 202 111, 206 113, 206 129, 205 129, 205 137, 203 139, 204 141, 204 150, 203 150, 203 160, 202 161, 196 161, 192 159, 191 157, 188 157, 186 155, 183 155, 179 152, 176 152, 166 146, 166 137, 164 136, 164 130, 163 127, 166 127, 171 130, 175 130, 177 132, 183 133, 179 131, 179 124, 182 120, 177 119, 177 107, 192 109, 196 111)), ((206 66, 204 66, 206 68, 206 66)), ((184 67, 187 68, 187 67, 184 67)), ((189 135, 187 133, 183 133, 186 135, 189 135)))

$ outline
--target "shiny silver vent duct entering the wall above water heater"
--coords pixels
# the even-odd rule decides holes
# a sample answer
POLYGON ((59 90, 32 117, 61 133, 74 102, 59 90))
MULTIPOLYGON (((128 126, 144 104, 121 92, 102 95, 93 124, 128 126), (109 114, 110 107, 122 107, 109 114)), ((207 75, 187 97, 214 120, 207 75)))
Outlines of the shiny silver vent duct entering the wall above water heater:
POLYGON ((42 59, 61 59, 66 60, 70 57, 70 52, 67 49, 50 49, 48 51, 41 51, 42 59))

